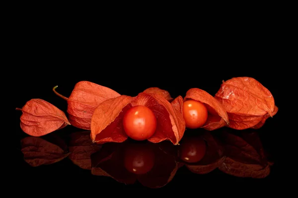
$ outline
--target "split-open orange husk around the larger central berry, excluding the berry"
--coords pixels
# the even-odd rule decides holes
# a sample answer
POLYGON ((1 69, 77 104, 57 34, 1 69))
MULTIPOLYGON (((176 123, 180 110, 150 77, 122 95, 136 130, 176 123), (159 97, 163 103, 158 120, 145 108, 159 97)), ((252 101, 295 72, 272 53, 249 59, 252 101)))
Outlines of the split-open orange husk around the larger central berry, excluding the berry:
POLYGON ((136 105, 145 105, 154 113, 156 131, 148 140, 159 143, 164 140, 177 145, 185 131, 182 114, 159 94, 140 93, 137 97, 120 96, 108 99, 95 109, 91 119, 91 139, 103 144, 106 142, 124 142, 126 135, 122 119, 126 111, 136 105))

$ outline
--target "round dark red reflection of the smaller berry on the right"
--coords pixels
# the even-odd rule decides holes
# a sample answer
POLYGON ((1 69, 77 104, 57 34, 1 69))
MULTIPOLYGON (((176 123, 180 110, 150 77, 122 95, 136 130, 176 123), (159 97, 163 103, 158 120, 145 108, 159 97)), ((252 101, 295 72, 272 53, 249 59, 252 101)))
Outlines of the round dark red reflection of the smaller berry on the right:
POLYGON ((206 153, 206 143, 202 137, 184 139, 180 146, 180 158, 189 163, 200 161, 206 153))

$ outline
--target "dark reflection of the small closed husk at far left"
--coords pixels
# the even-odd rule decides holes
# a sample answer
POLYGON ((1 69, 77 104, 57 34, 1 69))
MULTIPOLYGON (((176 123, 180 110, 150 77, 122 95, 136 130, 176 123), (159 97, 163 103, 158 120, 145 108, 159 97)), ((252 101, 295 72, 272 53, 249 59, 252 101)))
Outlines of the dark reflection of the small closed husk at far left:
POLYGON ((64 140, 56 134, 48 134, 43 138, 26 137, 21 140, 21 151, 24 160, 34 167, 56 163, 69 155, 64 140))

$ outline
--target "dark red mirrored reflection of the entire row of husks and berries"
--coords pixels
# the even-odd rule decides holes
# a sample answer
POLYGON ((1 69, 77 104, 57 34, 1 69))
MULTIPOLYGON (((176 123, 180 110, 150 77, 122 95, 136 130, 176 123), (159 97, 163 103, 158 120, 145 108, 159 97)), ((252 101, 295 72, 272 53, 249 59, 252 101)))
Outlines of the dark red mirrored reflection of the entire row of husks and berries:
POLYGON ((24 160, 31 166, 53 164, 68 158, 96 176, 130 185, 139 181, 149 188, 169 183, 185 166, 195 174, 215 169, 236 177, 264 178, 272 165, 255 130, 223 129, 186 132, 179 145, 127 140, 93 144, 90 131, 70 134, 68 146, 56 134, 21 140, 24 160))

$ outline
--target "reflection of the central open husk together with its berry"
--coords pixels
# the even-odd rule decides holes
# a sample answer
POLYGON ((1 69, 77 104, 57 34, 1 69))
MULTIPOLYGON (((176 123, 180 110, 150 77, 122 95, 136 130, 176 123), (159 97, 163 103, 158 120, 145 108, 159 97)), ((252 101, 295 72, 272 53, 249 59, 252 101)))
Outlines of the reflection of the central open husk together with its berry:
POLYGON ((172 180, 178 169, 175 155, 165 152, 163 147, 175 149, 171 143, 130 140, 122 144, 104 144, 100 151, 91 155, 91 172, 125 184, 134 184, 138 180, 149 188, 162 187, 172 180))

